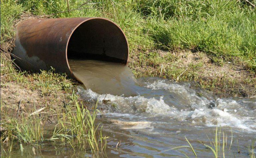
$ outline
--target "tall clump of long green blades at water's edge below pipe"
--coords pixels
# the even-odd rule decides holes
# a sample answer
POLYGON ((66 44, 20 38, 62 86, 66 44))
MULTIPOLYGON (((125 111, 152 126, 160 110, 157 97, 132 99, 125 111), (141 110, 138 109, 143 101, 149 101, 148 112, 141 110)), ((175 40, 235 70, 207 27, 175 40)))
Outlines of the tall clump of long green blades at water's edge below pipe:
POLYGON ((81 109, 77 100, 75 100, 74 107, 76 111, 69 109, 69 112, 63 114, 63 117, 59 119, 62 132, 66 131, 64 135, 72 136, 65 137, 66 139, 63 139, 63 141, 68 141, 74 149, 84 150, 90 148, 91 152, 105 150, 107 137, 102 136, 101 130, 98 136, 96 133, 99 125, 95 125, 95 119, 99 110, 95 107, 91 113, 88 109, 81 109))

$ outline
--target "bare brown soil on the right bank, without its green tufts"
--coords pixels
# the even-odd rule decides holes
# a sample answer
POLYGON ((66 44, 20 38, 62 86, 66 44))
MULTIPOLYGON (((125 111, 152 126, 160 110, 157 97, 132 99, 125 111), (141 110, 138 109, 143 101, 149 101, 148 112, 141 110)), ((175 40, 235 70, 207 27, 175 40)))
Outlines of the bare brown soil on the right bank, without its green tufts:
MULTIPOLYGON (((180 80, 178 81, 187 81, 186 79, 188 79, 189 76, 194 76, 193 79, 197 82, 196 85, 208 89, 220 97, 256 97, 256 74, 248 71, 246 64, 239 61, 239 59, 234 58, 231 62, 222 61, 221 63, 216 63, 213 61, 212 57, 203 52, 157 51, 157 53, 163 59, 166 59, 170 54, 172 56, 171 61, 163 63, 165 68, 163 72, 165 70, 168 71, 170 65, 174 71, 175 69, 177 72, 180 72, 180 69, 185 70, 180 73, 178 78, 180 80), (182 77, 184 77, 183 80, 181 79, 182 77)), ((132 55, 132 59, 129 61, 130 67, 141 61, 137 54, 138 53, 134 53, 132 55)), ((147 66, 144 68, 141 66, 139 69, 133 69, 150 76, 150 72, 154 72, 154 68, 160 66, 161 65, 158 64, 157 66, 147 66)), ((157 76, 161 77, 161 74, 157 76)), ((173 78, 173 76, 166 76, 166 78, 177 81, 177 78, 173 78)))

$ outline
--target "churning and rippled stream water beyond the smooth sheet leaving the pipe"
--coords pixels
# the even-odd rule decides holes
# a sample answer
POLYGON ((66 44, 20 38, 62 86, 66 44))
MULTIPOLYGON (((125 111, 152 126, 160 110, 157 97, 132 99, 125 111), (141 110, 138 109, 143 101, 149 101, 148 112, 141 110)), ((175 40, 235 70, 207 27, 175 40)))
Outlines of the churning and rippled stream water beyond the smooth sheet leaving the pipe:
POLYGON ((216 126, 227 134, 226 157, 248 157, 248 146, 256 139, 256 98, 218 98, 190 83, 160 78, 141 78, 137 83, 147 90, 129 97, 78 87, 83 98, 100 103, 103 114, 98 121, 111 136, 110 157, 184 157, 181 152, 194 157, 187 148, 168 150, 188 145, 185 136, 198 157, 213 157, 199 141, 210 145, 216 126), (118 140, 122 145, 115 149, 118 140))

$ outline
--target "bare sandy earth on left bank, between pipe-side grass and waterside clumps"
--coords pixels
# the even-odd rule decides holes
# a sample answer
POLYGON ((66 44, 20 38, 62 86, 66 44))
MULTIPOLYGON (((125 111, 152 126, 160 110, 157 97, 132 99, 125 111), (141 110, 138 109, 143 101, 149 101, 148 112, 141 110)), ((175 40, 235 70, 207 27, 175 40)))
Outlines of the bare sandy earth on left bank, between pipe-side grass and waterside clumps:
POLYGON ((54 116, 62 112, 64 102, 67 102, 65 93, 42 96, 39 90, 32 91, 19 84, 8 82, 1 85, 1 120, 36 114, 52 124, 56 121, 54 116))

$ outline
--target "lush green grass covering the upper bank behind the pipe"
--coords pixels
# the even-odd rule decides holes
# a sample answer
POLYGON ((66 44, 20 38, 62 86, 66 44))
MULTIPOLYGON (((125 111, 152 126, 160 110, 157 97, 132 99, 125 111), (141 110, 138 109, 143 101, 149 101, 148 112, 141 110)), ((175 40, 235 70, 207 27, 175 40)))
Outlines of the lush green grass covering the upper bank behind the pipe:
MULTIPOLYGON (((254 0, 252 3, 256 3, 254 0)), ((202 51, 227 62, 238 57, 256 68, 256 12, 245 1, 222 0, 1 0, 1 43, 12 38, 21 11, 53 18, 105 17, 128 37, 130 49, 202 51), (81 7, 80 7, 81 6, 81 7), (59 13, 59 14, 56 14, 59 13)))

